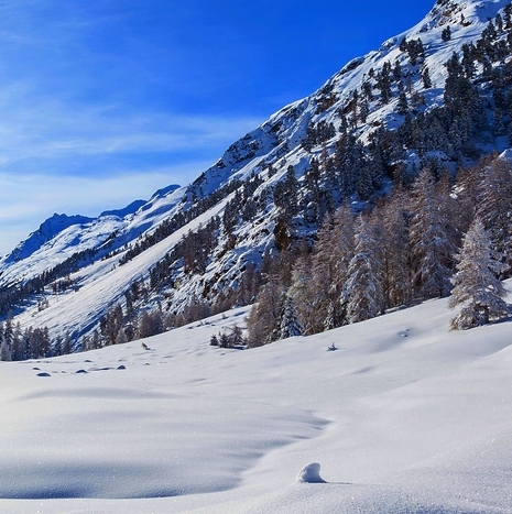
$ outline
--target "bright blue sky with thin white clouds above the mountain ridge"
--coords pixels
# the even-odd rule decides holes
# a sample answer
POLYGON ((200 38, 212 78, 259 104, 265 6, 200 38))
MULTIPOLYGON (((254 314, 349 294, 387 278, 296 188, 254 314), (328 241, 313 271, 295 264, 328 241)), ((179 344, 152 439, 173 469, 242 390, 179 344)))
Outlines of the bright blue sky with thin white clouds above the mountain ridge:
POLYGON ((188 184, 434 0, 0 0, 0 254, 188 184))

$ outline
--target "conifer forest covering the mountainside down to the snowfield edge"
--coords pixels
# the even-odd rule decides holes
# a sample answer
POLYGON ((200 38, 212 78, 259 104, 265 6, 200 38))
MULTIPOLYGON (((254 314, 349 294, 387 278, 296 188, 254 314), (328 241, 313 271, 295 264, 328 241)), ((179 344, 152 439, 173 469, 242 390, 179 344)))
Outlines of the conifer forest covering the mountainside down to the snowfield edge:
MULTIPOLYGON (((110 305, 90 333, 52 339, 44 327, 20 327, 12 314, 34 298, 37 308, 47 308, 52 295, 73 291, 79 266, 115 255, 108 245, 116 234, 100 250, 76 253, 41 276, 0 291, 6 319, 0 359, 100 348, 253 303, 247 338, 237 332, 217 341, 255 347, 357 322, 457 289, 458 255, 476 223, 500 263, 493 276, 511 276, 512 167, 491 153, 512 144, 511 17, 512 3, 444 63, 443 105, 427 108, 434 85, 425 46, 421 37, 404 37, 401 58, 370 70, 337 108, 336 125, 322 119, 305 128, 299 142, 308 156, 305 171, 288 165, 272 182, 277 164, 263 161, 249 178, 232 179, 208 195, 200 195, 200 181, 190 185, 179 212, 123 249, 118 265, 225 201, 220 215, 141 270, 123 302, 110 305), (382 106, 394 109, 399 125, 374 122, 362 138, 361 128, 382 106), (200 293, 174 302, 184 281, 204 276, 208 265, 237 249, 243 223, 262 220, 269 222, 262 232, 272 236, 272 245, 261 261, 244 263, 232 286, 220 287, 219 276, 215 283, 201 280, 200 293)), ((451 36, 445 26, 442 40, 451 36)), ((337 100, 331 86, 323 88, 316 114, 337 100)))

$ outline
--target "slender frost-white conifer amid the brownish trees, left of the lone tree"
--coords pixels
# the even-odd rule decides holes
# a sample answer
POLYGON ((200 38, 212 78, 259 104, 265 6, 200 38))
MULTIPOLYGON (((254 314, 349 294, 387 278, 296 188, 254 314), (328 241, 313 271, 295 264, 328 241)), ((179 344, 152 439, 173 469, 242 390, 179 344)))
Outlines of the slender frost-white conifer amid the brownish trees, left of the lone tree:
POLYGON ((348 266, 341 303, 346 305, 348 322, 363 321, 382 313, 382 262, 373 227, 359 216, 356 229, 356 251, 348 266))

